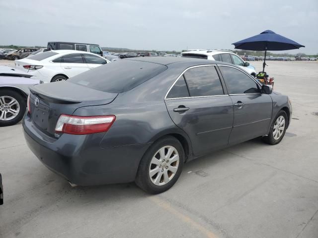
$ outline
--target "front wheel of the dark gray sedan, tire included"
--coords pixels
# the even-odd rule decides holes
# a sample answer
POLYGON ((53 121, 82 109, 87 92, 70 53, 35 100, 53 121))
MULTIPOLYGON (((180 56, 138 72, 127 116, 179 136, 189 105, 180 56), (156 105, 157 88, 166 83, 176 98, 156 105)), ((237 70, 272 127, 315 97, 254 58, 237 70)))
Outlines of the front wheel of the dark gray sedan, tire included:
POLYGON ((263 141, 270 145, 276 145, 282 141, 288 126, 288 117, 285 111, 281 110, 272 122, 269 134, 263 137, 263 141))

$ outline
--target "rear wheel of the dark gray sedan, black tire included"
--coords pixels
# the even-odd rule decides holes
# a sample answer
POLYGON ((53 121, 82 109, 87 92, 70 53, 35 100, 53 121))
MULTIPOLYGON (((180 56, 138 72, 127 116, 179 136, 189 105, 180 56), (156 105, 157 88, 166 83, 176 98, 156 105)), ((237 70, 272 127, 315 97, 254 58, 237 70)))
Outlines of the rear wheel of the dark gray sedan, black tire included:
POLYGON ((173 136, 156 141, 143 156, 135 179, 136 184, 152 194, 168 190, 180 177, 184 150, 173 136))

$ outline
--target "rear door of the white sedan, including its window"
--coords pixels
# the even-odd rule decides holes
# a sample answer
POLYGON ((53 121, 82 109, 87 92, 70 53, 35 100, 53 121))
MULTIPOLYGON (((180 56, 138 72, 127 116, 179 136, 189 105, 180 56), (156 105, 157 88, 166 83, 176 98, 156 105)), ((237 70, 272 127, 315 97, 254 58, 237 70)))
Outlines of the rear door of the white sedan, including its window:
POLYGON ((61 68, 68 77, 73 77, 88 70, 81 54, 68 54, 63 56, 61 68))

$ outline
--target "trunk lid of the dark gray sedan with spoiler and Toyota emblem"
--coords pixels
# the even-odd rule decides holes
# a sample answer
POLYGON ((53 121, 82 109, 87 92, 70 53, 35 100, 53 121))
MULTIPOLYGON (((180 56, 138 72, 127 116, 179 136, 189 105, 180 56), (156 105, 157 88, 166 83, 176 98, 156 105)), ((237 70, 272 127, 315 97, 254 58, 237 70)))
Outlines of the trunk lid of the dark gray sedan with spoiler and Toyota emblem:
POLYGON ((80 107, 109 104, 118 95, 67 81, 35 85, 29 89, 32 121, 38 129, 51 137, 55 135, 60 115, 72 115, 80 107))

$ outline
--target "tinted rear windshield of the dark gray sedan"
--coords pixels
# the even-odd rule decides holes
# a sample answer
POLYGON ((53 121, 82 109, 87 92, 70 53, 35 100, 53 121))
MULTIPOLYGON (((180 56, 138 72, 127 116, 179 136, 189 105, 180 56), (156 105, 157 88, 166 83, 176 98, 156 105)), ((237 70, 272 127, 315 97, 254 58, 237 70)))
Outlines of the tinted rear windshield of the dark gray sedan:
POLYGON ((136 60, 116 60, 68 79, 68 82, 108 93, 129 91, 167 69, 167 66, 136 60))

